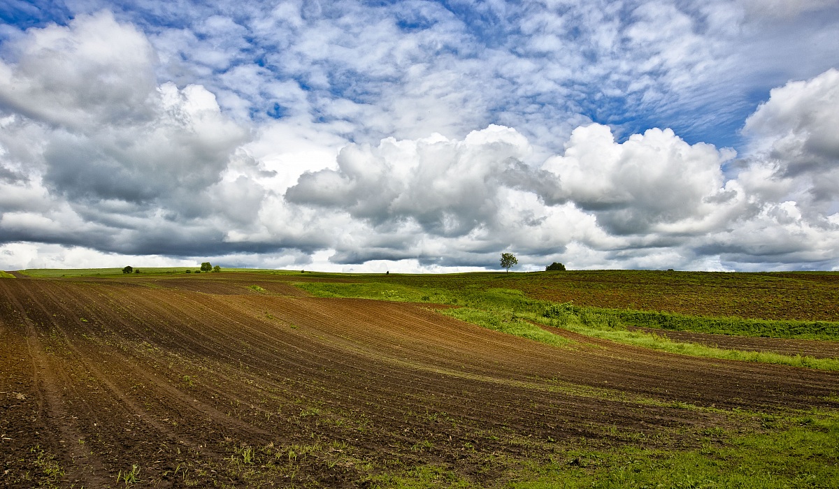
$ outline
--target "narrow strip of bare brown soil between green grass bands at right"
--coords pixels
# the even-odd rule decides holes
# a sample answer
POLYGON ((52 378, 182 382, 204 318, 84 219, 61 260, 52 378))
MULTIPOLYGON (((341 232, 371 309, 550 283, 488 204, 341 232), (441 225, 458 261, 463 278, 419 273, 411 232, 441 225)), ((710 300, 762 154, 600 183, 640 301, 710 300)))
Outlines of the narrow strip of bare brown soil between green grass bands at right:
POLYGON ((662 330, 628 326, 629 330, 664 336, 673 341, 698 343, 743 351, 771 351, 784 355, 815 356, 816 358, 839 358, 839 342, 817 340, 788 340, 784 338, 752 338, 748 336, 711 335, 690 331, 662 330))

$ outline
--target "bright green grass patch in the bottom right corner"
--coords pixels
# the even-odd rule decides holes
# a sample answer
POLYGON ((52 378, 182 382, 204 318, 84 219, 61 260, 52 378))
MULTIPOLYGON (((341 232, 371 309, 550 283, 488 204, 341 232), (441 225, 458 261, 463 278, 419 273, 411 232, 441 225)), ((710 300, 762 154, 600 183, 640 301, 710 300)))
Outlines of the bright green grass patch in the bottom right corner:
POLYGON ((831 414, 813 423, 695 450, 579 450, 569 460, 530 466, 535 477, 508 486, 831 487, 839 480, 839 419, 831 414))

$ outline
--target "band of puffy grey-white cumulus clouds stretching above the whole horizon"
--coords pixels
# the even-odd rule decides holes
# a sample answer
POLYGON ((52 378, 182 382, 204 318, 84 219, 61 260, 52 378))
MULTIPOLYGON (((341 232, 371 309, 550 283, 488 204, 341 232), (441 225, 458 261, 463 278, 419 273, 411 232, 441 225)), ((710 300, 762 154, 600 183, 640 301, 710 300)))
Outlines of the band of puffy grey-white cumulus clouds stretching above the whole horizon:
POLYGON ((159 81, 159 49, 107 12, 5 49, 0 268, 442 271, 494 268, 502 251, 524 268, 839 267, 836 70, 771 91, 739 156, 585 123, 545 158, 500 124, 350 143, 349 122, 243 121, 206 86, 159 81))

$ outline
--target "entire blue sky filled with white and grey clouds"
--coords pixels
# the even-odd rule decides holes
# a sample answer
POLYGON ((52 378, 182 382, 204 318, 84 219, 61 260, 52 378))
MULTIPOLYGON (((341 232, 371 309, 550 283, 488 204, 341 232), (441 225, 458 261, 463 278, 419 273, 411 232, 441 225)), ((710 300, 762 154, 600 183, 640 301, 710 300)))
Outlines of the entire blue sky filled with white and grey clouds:
POLYGON ((0 5, 0 269, 839 270, 836 0, 0 5))

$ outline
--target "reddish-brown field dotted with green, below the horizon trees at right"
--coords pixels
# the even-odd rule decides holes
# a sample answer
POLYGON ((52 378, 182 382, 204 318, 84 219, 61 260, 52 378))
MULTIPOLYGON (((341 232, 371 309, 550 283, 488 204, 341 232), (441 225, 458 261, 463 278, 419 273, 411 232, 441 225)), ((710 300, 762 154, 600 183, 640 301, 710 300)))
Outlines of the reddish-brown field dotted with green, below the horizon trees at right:
POLYGON ((839 273, 574 270, 550 273, 391 275, 394 284, 506 287, 529 297, 612 309, 765 320, 839 320, 839 273))

